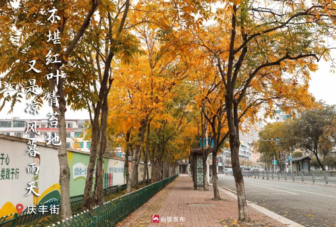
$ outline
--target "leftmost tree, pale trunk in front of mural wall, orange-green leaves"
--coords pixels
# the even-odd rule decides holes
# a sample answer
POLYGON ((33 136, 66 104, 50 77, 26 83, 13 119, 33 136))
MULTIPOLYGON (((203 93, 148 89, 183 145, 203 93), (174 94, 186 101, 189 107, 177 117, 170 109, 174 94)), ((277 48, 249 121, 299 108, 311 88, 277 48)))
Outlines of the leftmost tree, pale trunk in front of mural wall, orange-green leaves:
MULTIPOLYGON (((72 64, 68 64, 72 53, 76 50, 76 45, 85 33, 90 24, 91 17, 94 14, 100 0, 76 1, 76 2, 36 2, 31 0, 20 1, 18 6, 13 6, 12 2, 1 3, 1 25, 0 40, 3 58, 0 62, 0 72, 5 73, 1 78, 0 98, 4 102, 11 101, 11 111, 16 101, 22 98, 25 87, 29 86, 30 79, 36 80, 36 85, 42 89, 42 92, 34 98, 34 102, 42 105, 43 99, 52 92, 58 96, 58 104, 52 105, 53 113, 57 113, 58 135, 61 145, 58 147, 58 160, 60 167, 60 186, 61 186, 61 216, 62 218, 71 215, 70 208, 70 170, 68 166, 67 148, 66 148, 66 123, 65 112, 67 110, 67 97, 69 92, 67 87, 76 87, 69 83, 72 76, 55 77, 49 79, 46 75, 56 75, 56 72, 62 70, 65 74, 69 73, 72 64), (57 20, 50 23, 48 10, 56 9, 57 20), (61 38, 59 42, 47 41, 49 32, 56 32, 61 38), (48 51, 56 54, 56 64, 49 65, 46 61, 48 51), (34 60, 34 68, 39 71, 29 69, 29 62, 34 60), (66 64, 64 66, 64 64, 66 64), (13 93, 7 92, 14 90, 13 93)), ((49 54, 50 54, 49 53, 49 54)), ((33 63, 31 63, 33 64, 33 63)), ((67 74, 68 75, 68 74, 67 74)), ((79 77, 76 77, 79 80, 79 77)), ((85 79, 82 79, 85 81, 85 79)), ((75 89, 75 88, 74 88, 75 89)), ((32 96, 26 96, 29 100, 32 96)))

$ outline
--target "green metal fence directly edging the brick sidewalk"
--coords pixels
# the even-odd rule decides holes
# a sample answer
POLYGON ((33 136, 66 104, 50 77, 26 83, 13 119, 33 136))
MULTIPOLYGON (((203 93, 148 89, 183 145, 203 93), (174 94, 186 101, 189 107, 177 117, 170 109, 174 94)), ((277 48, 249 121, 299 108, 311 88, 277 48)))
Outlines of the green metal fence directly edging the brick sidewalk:
MULTIPOLYGON (((172 182, 178 175, 155 182, 134 192, 120 196, 101 206, 93 208, 92 212, 86 211, 62 222, 53 224, 57 227, 114 227, 124 220, 153 195, 172 182)), ((50 227, 50 226, 48 226, 50 227)))

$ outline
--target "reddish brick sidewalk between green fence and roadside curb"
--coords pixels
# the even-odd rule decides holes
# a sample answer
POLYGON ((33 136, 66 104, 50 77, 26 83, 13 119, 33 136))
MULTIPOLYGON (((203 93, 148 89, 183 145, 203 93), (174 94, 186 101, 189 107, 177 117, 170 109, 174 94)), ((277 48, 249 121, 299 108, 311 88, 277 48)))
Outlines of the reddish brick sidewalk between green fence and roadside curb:
MULTIPOLYGON (((154 195, 133 214, 118 226, 221 226, 221 219, 238 219, 237 200, 220 190, 221 201, 211 200, 211 191, 193 190, 193 181, 189 176, 179 176, 172 183, 154 195), (212 204, 206 206, 190 206, 188 204, 212 204), (160 223, 151 223, 151 215, 159 215, 160 223), (163 222, 161 218, 172 217, 171 222, 163 222), (178 217, 178 222, 174 222, 178 217), (180 221, 184 217, 184 221, 180 221)), ((252 220, 266 220, 271 226, 285 227, 287 225, 274 220, 249 207, 252 220)))

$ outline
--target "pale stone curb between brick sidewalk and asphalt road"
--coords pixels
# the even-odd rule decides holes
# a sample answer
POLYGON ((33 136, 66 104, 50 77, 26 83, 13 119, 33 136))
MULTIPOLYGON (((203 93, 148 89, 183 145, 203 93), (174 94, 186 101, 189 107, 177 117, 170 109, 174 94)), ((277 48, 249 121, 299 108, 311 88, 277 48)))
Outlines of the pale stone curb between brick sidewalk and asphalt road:
MULTIPOLYGON (((212 186, 212 184, 210 184, 212 186)), ((237 195, 228 191, 228 190, 225 190, 224 188, 221 188, 221 187, 218 187, 219 190, 223 191, 224 193, 226 193, 227 195, 231 196, 231 197, 234 197, 237 199, 237 195)), ((272 219, 275 219, 279 222, 281 222, 282 224, 285 224, 289 227, 305 227, 299 223, 296 223, 288 218, 285 218, 281 215, 278 215, 277 213, 274 213, 270 210, 267 210, 266 208, 262 207, 262 206, 259 206, 255 203, 251 203, 250 201, 246 200, 247 201, 247 205, 251 206, 252 208, 254 208, 255 210, 267 215, 268 217, 272 218, 272 219)))

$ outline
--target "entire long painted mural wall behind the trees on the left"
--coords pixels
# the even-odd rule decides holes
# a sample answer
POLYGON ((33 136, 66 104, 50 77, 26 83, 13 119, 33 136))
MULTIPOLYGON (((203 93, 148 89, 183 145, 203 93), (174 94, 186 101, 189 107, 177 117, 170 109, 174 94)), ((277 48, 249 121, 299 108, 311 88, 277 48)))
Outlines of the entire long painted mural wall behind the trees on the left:
MULTIPOLYGON (((27 139, 0 134, 0 217, 17 213, 18 204, 26 209, 28 205, 60 199, 57 147, 38 142, 37 151, 40 155, 33 159, 26 154, 27 142, 27 139), (27 172, 27 167, 32 162, 39 164, 40 171, 37 176, 27 172), (33 196, 33 193, 25 196, 30 182, 38 185, 36 192, 41 196, 33 196)), ((87 152, 68 150, 70 196, 84 193, 89 156, 87 152)), ((126 183, 124 164, 122 159, 103 158, 104 187, 126 183)), ((143 164, 140 163, 139 180, 143 178, 143 171, 143 164)), ((149 174, 151 176, 151 166, 149 174)))

